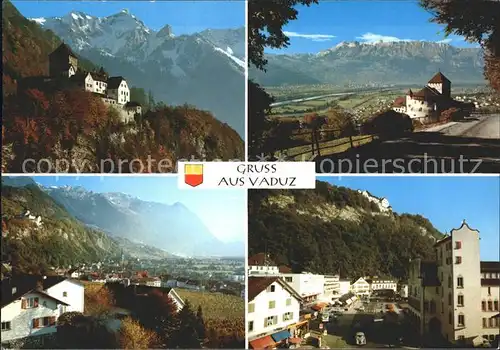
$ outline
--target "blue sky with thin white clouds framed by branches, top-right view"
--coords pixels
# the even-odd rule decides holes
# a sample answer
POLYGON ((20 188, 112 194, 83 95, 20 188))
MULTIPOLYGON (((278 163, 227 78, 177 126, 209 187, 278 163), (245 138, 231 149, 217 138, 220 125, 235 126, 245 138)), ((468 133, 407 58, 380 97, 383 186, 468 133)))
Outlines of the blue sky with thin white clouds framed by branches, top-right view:
POLYGON ((284 28, 290 46, 274 53, 317 53, 342 41, 426 40, 473 47, 463 37, 445 38, 444 26, 430 23, 432 15, 417 1, 320 1, 297 6, 297 19, 284 28))

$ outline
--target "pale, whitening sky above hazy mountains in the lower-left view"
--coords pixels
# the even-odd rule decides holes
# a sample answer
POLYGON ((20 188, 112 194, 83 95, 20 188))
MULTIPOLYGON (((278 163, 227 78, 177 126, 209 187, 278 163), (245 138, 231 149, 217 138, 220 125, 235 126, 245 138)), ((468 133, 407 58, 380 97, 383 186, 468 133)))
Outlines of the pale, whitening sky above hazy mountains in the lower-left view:
POLYGON ((81 186, 94 192, 122 192, 144 201, 181 202, 219 239, 244 241, 247 202, 244 190, 181 190, 176 177, 35 176, 43 186, 81 186))

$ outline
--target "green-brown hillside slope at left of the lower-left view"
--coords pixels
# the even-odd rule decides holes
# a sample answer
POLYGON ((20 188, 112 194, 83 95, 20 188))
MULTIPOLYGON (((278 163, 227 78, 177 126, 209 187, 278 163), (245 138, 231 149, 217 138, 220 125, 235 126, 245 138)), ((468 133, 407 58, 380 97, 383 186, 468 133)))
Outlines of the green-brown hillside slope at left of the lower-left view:
POLYGON ((2 185, 2 246, 22 272, 99 261, 118 256, 117 244, 103 232, 85 227, 37 186, 2 185), (21 215, 41 216, 41 225, 21 215))

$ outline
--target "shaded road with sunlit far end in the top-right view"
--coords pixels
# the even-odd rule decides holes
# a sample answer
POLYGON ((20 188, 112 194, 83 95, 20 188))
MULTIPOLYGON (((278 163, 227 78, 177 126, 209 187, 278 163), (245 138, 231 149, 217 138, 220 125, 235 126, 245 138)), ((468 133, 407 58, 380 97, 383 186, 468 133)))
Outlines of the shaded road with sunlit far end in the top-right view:
POLYGON ((316 163, 322 173, 499 173, 500 114, 375 141, 316 163))

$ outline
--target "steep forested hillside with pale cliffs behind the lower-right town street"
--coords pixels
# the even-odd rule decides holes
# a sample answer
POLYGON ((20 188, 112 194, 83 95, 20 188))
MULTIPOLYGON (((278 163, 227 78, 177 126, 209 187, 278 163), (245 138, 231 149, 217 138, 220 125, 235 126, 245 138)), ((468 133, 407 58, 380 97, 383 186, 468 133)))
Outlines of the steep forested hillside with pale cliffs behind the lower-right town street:
POLYGON ((407 276, 442 234, 419 215, 384 213, 360 193, 326 182, 315 190, 249 193, 249 254, 267 251, 295 271, 407 276))

